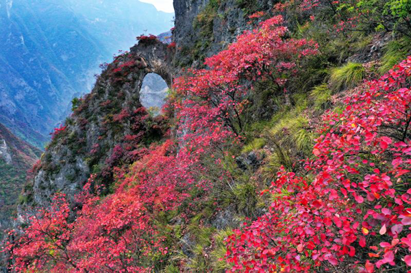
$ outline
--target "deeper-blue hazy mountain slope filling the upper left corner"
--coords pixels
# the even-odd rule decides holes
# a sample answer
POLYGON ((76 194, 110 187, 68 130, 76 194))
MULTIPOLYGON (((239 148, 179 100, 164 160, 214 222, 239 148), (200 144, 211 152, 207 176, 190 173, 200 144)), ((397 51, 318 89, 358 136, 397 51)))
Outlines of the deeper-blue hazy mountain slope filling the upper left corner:
MULTIPOLYGON (((108 51, 63 5, 8 3, 0 7, 0 122, 47 135, 73 95, 90 88, 108 51)), ((38 146, 45 140, 13 129, 38 146)))

